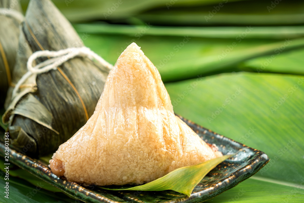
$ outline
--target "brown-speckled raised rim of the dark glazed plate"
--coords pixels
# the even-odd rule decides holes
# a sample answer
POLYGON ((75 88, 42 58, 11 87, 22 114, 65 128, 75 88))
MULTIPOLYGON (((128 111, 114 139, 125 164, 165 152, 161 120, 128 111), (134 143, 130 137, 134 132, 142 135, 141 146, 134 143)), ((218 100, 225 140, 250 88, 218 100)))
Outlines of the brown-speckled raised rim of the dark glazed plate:
MULTIPOLYGON (((240 146, 243 146, 243 148, 247 148, 247 149, 255 152, 254 154, 256 155, 256 157, 255 157, 255 159, 253 159, 253 162, 250 162, 246 166, 243 166, 240 169, 238 169, 237 171, 231 173, 229 177, 220 179, 218 182, 216 182, 216 185, 214 185, 214 186, 204 188, 201 191, 192 192, 190 197, 183 197, 183 198, 176 198, 176 199, 168 200, 168 201, 161 201, 161 203, 191 202, 192 200, 197 199, 197 198, 201 198, 200 202, 207 201, 209 199, 216 197, 219 194, 222 194, 224 191, 227 191, 227 190, 231 189, 232 187, 235 187, 236 185, 238 185, 242 181, 246 180, 247 178, 253 176, 262 167, 264 167, 270 160, 269 157, 264 152, 262 152, 258 149, 248 147, 245 144, 242 144, 233 139, 220 135, 214 131, 211 131, 207 128, 202 127, 199 124, 195 124, 194 122, 192 122, 184 117, 181 117, 180 115, 177 115, 177 116, 179 118, 181 118, 181 120, 183 120, 190 128, 197 128, 198 130, 196 130, 196 131, 194 130, 197 134, 198 134, 198 131, 202 131, 203 134, 206 134, 208 131, 209 133, 212 133, 214 136, 216 136, 218 138, 226 139, 226 141, 228 141, 228 142, 238 144, 240 146), (261 164, 259 165, 259 163, 262 163, 262 165, 261 164), (255 167, 253 173, 251 173, 249 170, 252 167, 255 167), (228 184, 226 183, 226 185, 224 185, 224 183, 223 183, 225 180, 226 181, 228 180, 228 184), (233 180, 237 180, 237 181, 233 181, 233 180), (226 188, 224 188, 224 190, 221 191, 219 194, 210 195, 209 196, 210 198, 203 198, 203 196, 204 196, 203 193, 206 192, 207 189, 209 189, 209 188, 213 189, 214 187, 218 187, 217 189, 221 189, 223 187, 226 187, 226 188)), ((3 157, 4 157, 4 150, 5 150, 5 145, 3 142, 0 142, 0 155, 3 157)), ((25 154, 21 154, 12 148, 9 148, 9 157, 10 157, 9 161, 11 163, 19 166, 20 168, 28 171, 29 173, 32 173, 36 177, 59 188, 60 190, 64 191, 65 193, 70 194, 71 196, 73 196, 74 198, 77 198, 78 200, 86 201, 86 202, 94 202, 94 203, 98 203, 98 202, 122 203, 119 201, 113 201, 100 194, 96 194, 94 191, 89 190, 85 187, 82 187, 81 185, 79 185, 75 182, 67 180, 65 177, 56 176, 54 173, 51 172, 49 167, 46 167, 43 164, 39 163, 39 161, 37 159, 33 159, 29 156, 26 156, 25 154), (17 160, 20 160, 21 163, 23 163, 23 164, 19 163, 17 160), (32 169, 33 167, 36 168, 37 173, 34 173, 32 170, 29 170, 29 169, 32 169), (43 176, 43 174, 46 174, 47 178, 45 178, 46 176, 43 176), (68 187, 70 189, 74 189, 75 193, 72 193, 69 190, 66 190, 68 187)), ((124 202, 126 202, 126 201, 124 201, 124 202)))

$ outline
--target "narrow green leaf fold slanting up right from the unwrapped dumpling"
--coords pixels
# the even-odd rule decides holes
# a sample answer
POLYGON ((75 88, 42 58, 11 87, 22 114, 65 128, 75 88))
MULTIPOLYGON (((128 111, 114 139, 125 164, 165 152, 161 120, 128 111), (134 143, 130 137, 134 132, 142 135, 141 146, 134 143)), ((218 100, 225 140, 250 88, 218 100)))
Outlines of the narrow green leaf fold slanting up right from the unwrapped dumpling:
POLYGON ((229 47, 232 45, 228 44, 222 47, 222 50, 218 54, 202 56, 201 58, 185 59, 183 61, 170 61, 164 68, 159 70, 161 73, 162 80, 176 81, 187 78, 194 78, 201 74, 206 74, 206 71, 220 71, 227 67, 235 67, 240 62, 255 58, 267 54, 276 54, 283 51, 296 49, 304 46, 304 38, 295 40, 283 40, 275 43, 267 43, 263 45, 254 45, 252 47, 241 48, 241 45, 236 48, 229 47), (189 64, 193 64, 191 68, 187 67, 189 64), (208 68, 207 68, 208 67, 208 68))

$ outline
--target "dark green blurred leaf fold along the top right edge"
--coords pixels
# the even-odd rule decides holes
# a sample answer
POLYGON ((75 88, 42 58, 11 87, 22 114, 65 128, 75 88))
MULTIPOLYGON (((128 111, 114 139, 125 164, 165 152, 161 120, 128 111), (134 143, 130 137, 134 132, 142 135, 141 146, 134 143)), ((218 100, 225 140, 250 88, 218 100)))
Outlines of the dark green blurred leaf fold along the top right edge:
POLYGON ((213 5, 148 10, 135 15, 143 22, 157 25, 295 25, 303 23, 303 2, 223 1, 213 5), (250 8, 250 9, 248 9, 250 8))

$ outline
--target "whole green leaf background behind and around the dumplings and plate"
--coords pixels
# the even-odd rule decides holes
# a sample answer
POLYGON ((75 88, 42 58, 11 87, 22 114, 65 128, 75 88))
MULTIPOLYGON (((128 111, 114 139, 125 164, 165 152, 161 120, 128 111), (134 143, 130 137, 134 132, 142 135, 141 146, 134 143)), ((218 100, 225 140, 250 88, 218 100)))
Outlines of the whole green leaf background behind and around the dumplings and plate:
MULTIPOLYGON (((161 73, 175 113, 270 157, 207 202, 304 201, 302 1, 53 2, 112 64, 136 42, 161 73)), ((28 1, 21 4, 25 12, 28 1)), ((0 201, 80 202, 18 167, 10 169, 10 192, 0 201)))

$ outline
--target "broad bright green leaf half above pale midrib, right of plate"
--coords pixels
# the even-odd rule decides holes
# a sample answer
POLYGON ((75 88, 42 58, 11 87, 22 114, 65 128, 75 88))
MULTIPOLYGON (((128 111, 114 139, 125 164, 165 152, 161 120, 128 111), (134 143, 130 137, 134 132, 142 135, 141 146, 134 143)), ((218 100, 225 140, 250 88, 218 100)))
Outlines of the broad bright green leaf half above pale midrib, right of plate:
POLYGON ((166 88, 174 103, 188 85, 197 84, 175 105, 177 114, 265 152, 271 160, 259 176, 300 184, 304 170, 303 79, 236 73, 169 83, 166 88), (236 96, 238 88, 242 92, 236 96))

